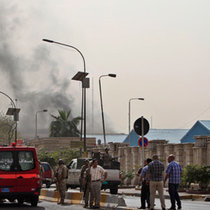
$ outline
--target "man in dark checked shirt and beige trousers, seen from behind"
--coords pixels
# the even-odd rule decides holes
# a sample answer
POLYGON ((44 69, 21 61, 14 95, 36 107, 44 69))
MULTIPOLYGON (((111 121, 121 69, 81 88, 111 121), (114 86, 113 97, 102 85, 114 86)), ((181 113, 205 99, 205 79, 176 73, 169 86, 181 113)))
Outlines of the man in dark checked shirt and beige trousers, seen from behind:
POLYGON ((150 188, 150 210, 154 210, 155 192, 158 191, 162 210, 165 209, 165 199, 163 195, 163 171, 164 165, 158 160, 157 155, 153 155, 152 162, 148 165, 146 182, 150 188))

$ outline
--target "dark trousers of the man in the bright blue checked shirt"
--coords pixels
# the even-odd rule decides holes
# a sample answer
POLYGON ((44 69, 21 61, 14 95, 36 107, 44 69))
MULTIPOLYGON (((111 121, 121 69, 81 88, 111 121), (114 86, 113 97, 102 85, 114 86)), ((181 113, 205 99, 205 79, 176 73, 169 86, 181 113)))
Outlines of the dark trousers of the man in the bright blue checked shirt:
POLYGON ((175 202, 177 202, 178 207, 181 207, 181 201, 180 201, 179 194, 177 191, 178 187, 179 187, 179 184, 172 184, 172 183, 168 184, 168 192, 170 195, 171 207, 174 209, 176 207, 175 202))

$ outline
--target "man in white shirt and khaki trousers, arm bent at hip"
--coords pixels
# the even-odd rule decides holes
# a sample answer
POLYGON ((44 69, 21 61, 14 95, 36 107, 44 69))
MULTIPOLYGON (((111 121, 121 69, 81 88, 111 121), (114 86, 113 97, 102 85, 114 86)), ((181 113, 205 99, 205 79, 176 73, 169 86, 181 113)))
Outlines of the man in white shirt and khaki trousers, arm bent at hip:
POLYGON ((90 168, 91 175, 91 196, 90 196, 90 208, 99 209, 101 201, 101 184, 107 178, 107 172, 98 165, 96 159, 93 160, 93 165, 90 168), (104 179, 102 180, 102 176, 104 179), (93 201, 95 201, 95 206, 93 207, 93 201))

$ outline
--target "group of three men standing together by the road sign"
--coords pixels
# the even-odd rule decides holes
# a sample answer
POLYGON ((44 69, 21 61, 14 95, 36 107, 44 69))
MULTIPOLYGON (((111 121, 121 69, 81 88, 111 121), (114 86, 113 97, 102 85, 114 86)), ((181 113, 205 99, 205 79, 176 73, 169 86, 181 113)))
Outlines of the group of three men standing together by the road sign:
POLYGON ((181 182, 182 169, 178 162, 175 161, 173 154, 168 156, 168 166, 164 174, 164 164, 159 161, 157 155, 152 159, 148 158, 144 162, 144 167, 138 171, 139 185, 141 185, 141 206, 139 209, 154 210, 155 193, 158 191, 162 210, 166 210, 163 188, 168 179, 168 191, 170 195, 171 207, 169 210, 181 209, 181 201, 178 194, 178 187, 181 182))

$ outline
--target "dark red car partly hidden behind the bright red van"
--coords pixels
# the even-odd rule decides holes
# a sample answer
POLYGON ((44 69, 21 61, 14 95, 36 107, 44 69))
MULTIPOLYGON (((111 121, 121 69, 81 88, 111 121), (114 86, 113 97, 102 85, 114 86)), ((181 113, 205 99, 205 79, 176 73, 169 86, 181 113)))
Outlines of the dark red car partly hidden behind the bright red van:
POLYGON ((46 184, 46 187, 49 188, 55 182, 54 171, 48 162, 41 162, 40 165, 43 169, 42 184, 46 184))

